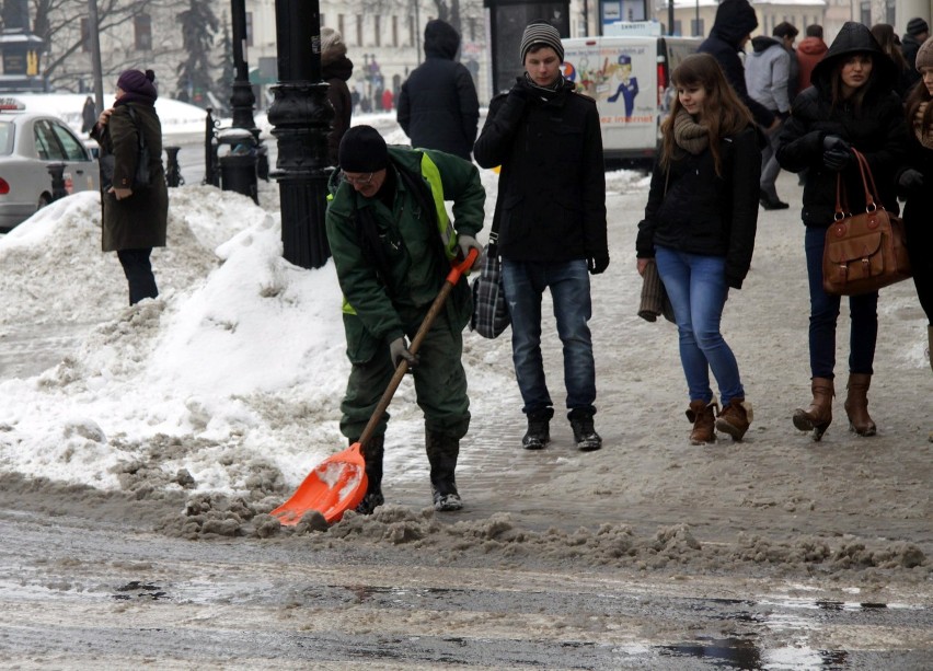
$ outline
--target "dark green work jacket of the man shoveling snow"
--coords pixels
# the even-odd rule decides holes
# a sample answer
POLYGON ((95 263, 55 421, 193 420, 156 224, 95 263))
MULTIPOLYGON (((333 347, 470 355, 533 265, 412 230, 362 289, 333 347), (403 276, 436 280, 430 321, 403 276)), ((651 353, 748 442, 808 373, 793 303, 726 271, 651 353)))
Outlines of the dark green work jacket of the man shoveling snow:
MULTIPOLYGON (((404 166, 421 175, 423 153, 440 173, 445 200, 453 201, 453 222, 459 234, 475 236, 483 228, 486 193, 473 163, 433 150, 390 147, 392 165, 404 166)), ((347 356, 354 363, 369 361, 377 348, 395 338, 413 335, 413 326, 437 297, 450 266, 441 250, 440 233, 434 217, 425 217, 419 200, 395 178, 392 211, 379 197, 364 198, 343 182, 327 208, 327 241, 337 269, 344 298, 352 310, 344 310, 347 356), (367 259, 356 229, 354 207, 369 208, 380 233, 382 250, 390 263, 388 277, 381 277, 367 259)), ((427 182, 426 182, 427 183, 427 182)), ((470 320, 472 301, 465 278, 448 300, 451 324, 462 329, 470 320)))

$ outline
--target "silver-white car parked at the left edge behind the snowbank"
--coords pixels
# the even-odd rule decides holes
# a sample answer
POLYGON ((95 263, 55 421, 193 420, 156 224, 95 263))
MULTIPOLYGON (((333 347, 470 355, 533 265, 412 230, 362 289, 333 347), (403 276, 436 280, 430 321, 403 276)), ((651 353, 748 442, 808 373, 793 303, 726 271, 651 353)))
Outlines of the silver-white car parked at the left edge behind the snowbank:
POLYGON ((64 165, 66 194, 100 188, 96 159, 65 122, 0 99, 0 231, 53 201, 48 166, 56 163, 64 165))

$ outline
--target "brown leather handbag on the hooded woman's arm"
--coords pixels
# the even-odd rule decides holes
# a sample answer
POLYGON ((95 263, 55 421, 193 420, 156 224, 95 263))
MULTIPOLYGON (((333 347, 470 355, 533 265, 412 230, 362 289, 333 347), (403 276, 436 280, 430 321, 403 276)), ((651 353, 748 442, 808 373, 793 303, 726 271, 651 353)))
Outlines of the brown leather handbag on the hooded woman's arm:
POLYGON ((854 149, 852 152, 862 173, 865 211, 848 211, 845 186, 842 175, 838 175, 836 217, 826 231, 822 252, 822 288, 836 296, 869 293, 911 276, 903 222, 877 198, 867 159, 854 149))

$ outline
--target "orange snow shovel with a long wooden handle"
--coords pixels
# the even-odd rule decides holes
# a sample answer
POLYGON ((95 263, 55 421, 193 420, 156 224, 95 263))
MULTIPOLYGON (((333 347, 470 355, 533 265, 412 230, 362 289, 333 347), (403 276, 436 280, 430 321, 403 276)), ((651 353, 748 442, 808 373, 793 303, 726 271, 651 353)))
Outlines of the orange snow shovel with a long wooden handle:
MULTIPOLYGON (((454 265, 447 276, 447 279, 441 287, 437 298, 434 299, 428 313, 425 315, 418 332, 415 334, 408 351, 416 354, 425 339, 427 332, 434 324, 444 303, 447 302, 447 297, 450 291, 460 281, 460 276, 465 270, 472 267, 476 261, 479 252, 471 250, 466 258, 458 265, 454 265)), ((301 521, 301 517, 311 510, 316 510, 329 524, 339 521, 344 512, 352 508, 356 508, 362 497, 366 495, 366 462, 362 459, 362 447, 372 438, 379 420, 383 413, 392 402, 392 396, 399 384, 402 383, 402 378, 408 372, 408 362, 404 359, 399 363, 395 373, 389 381, 389 386, 379 400, 372 417, 362 430, 359 440, 353 443, 349 448, 342 452, 337 452, 322 461, 308 476, 304 482, 299 485, 295 494, 287 501, 272 511, 279 519, 279 522, 287 525, 293 525, 301 521)))

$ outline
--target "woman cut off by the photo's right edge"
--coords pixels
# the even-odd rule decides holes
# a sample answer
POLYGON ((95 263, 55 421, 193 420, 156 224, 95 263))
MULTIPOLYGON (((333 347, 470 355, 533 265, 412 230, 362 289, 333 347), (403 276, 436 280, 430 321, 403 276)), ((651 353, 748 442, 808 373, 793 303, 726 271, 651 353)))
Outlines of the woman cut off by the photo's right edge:
MULTIPOLYGON (((898 177, 903 206, 907 251, 913 270, 917 297, 926 314, 926 351, 933 351, 933 38, 917 51, 917 69, 922 83, 907 99, 910 158, 898 177)), ((933 358, 930 361, 933 367, 933 358)), ((929 407, 929 405, 928 405, 929 407)), ((931 433, 933 440, 933 433, 931 433)))

